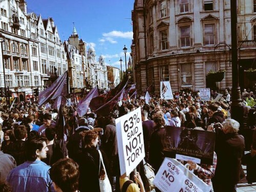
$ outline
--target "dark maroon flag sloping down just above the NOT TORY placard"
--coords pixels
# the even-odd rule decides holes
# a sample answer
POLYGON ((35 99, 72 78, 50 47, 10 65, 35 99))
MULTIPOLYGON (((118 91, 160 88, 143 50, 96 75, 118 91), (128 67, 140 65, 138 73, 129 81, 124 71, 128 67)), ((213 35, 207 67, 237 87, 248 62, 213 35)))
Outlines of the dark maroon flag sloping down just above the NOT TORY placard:
POLYGON ((95 113, 97 113, 97 115, 110 115, 110 113, 112 112, 114 106, 117 104, 117 102, 119 100, 122 99, 123 94, 125 92, 125 87, 127 86, 127 82, 125 83, 123 89, 121 89, 116 95, 115 97, 113 97, 111 100, 109 100, 107 103, 103 104, 100 108, 98 108, 95 113))

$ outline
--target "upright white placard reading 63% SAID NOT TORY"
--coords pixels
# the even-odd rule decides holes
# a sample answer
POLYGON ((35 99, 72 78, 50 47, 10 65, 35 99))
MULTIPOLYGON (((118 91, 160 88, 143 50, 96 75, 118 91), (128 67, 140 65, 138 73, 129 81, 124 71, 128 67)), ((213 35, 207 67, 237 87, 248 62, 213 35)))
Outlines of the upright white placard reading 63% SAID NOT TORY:
POLYGON ((145 157, 141 108, 116 119, 121 175, 129 175, 145 157))

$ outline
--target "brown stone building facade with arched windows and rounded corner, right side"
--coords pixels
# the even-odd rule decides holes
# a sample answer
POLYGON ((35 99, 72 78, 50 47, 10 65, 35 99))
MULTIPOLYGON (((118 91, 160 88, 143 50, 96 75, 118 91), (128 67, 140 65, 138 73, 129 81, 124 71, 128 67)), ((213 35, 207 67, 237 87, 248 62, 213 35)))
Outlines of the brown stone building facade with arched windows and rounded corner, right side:
MULTIPOLYGON (((132 12, 132 48, 135 81, 139 91, 160 81, 170 81, 173 91, 212 87, 208 71, 225 70, 216 88, 231 88, 230 0, 135 0, 132 12)), ((239 82, 255 82, 245 70, 256 69, 256 1, 238 4, 239 82)))

